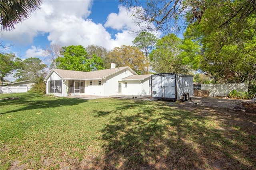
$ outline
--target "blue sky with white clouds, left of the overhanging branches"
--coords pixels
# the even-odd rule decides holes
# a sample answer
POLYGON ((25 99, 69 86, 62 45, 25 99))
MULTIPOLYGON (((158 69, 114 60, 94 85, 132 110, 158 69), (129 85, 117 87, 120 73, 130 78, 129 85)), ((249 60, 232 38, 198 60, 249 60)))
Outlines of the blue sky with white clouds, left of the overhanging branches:
MULTIPOLYGON (((38 57, 46 63, 46 45, 99 45, 114 49, 132 45, 139 30, 132 22, 132 12, 115 0, 47 0, 29 19, 15 25, 12 31, 1 31, 4 53, 15 53, 21 59, 38 57)), ((6 79, 11 80, 11 77, 6 79)))

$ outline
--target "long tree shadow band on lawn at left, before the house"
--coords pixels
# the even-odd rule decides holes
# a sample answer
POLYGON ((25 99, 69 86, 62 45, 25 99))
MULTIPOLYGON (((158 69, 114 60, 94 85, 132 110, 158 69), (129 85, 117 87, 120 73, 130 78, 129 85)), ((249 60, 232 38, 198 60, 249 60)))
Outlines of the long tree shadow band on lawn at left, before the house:
POLYGON ((14 113, 17 111, 24 111, 30 109, 46 109, 55 108, 61 106, 74 106, 80 103, 87 102, 87 100, 82 99, 72 99, 72 98, 54 98, 43 96, 42 94, 28 93, 18 96, 14 100, 1 100, 1 106, 12 107, 13 105, 20 105, 18 109, 10 109, 9 111, 2 111, 0 114, 14 113))

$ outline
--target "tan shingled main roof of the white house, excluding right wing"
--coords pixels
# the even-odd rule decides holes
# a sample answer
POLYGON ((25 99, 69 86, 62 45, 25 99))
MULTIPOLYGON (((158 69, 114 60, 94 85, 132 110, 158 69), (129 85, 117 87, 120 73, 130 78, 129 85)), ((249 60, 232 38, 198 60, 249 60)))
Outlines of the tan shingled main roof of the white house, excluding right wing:
POLYGON ((127 70, 127 69, 130 70, 133 74, 137 74, 129 66, 109 68, 109 69, 105 69, 105 70, 96 70, 96 71, 90 71, 90 72, 74 71, 74 70, 61 70, 61 69, 54 68, 46 76, 44 81, 46 81, 50 77, 52 72, 55 72, 62 79, 66 79, 66 80, 74 80, 74 79, 75 80, 101 80, 101 79, 106 78, 107 76, 115 74, 116 72, 119 72, 121 70, 127 70))

